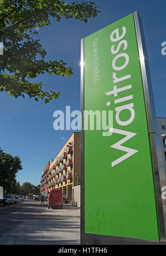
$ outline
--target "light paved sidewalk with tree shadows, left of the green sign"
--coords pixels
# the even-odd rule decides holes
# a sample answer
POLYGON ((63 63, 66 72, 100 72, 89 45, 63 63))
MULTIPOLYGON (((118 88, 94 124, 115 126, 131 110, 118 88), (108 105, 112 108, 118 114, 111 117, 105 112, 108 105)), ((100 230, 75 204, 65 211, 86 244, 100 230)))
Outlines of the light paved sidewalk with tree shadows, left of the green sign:
POLYGON ((14 213, 13 218, 23 221, 0 238, 0 244, 80 244, 80 209, 64 205, 63 209, 48 209, 32 214, 23 209, 14 213), (27 214, 28 213, 28 214, 27 214), (33 217, 32 217, 33 215, 33 217))

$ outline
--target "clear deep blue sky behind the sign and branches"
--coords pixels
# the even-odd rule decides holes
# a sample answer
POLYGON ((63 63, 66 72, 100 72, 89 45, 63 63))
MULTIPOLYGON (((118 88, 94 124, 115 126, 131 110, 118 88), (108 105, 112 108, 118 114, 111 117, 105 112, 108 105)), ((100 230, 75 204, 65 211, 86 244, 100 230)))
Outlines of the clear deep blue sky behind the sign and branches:
POLYGON ((39 29, 40 43, 47 52, 46 59, 61 58, 74 71, 71 78, 42 75, 35 79, 43 81, 46 89, 61 92, 58 99, 45 104, 28 97, 15 99, 0 93, 0 147, 22 160, 23 170, 17 174, 20 184, 30 182, 38 185, 46 163, 55 158, 72 134, 72 131, 53 129, 53 113, 56 110, 65 111, 65 106, 71 106, 71 111, 80 109, 81 38, 134 11, 138 11, 143 21, 156 113, 157 116, 166 117, 166 55, 161 54, 161 44, 166 41, 165 0, 94 2, 100 7, 101 13, 87 24, 74 19, 63 19, 59 23, 51 19, 50 27, 39 29))

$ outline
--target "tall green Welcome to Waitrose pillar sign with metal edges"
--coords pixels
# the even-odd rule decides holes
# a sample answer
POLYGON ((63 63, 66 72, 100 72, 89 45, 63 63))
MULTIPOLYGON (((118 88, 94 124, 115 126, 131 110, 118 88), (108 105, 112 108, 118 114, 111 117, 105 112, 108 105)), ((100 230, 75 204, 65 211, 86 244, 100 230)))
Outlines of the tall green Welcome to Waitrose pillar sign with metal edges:
POLYGON ((81 132, 81 241, 159 241, 155 128, 137 12, 82 39, 81 63, 82 114, 113 118, 108 131, 101 125, 81 132))

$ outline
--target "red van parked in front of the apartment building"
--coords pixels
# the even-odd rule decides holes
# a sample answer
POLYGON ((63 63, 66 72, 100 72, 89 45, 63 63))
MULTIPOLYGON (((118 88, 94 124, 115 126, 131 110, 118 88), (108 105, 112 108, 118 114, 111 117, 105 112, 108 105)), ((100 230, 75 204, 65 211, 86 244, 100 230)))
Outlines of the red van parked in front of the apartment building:
POLYGON ((55 209, 63 206, 63 194, 61 190, 51 189, 49 193, 48 208, 55 209))

